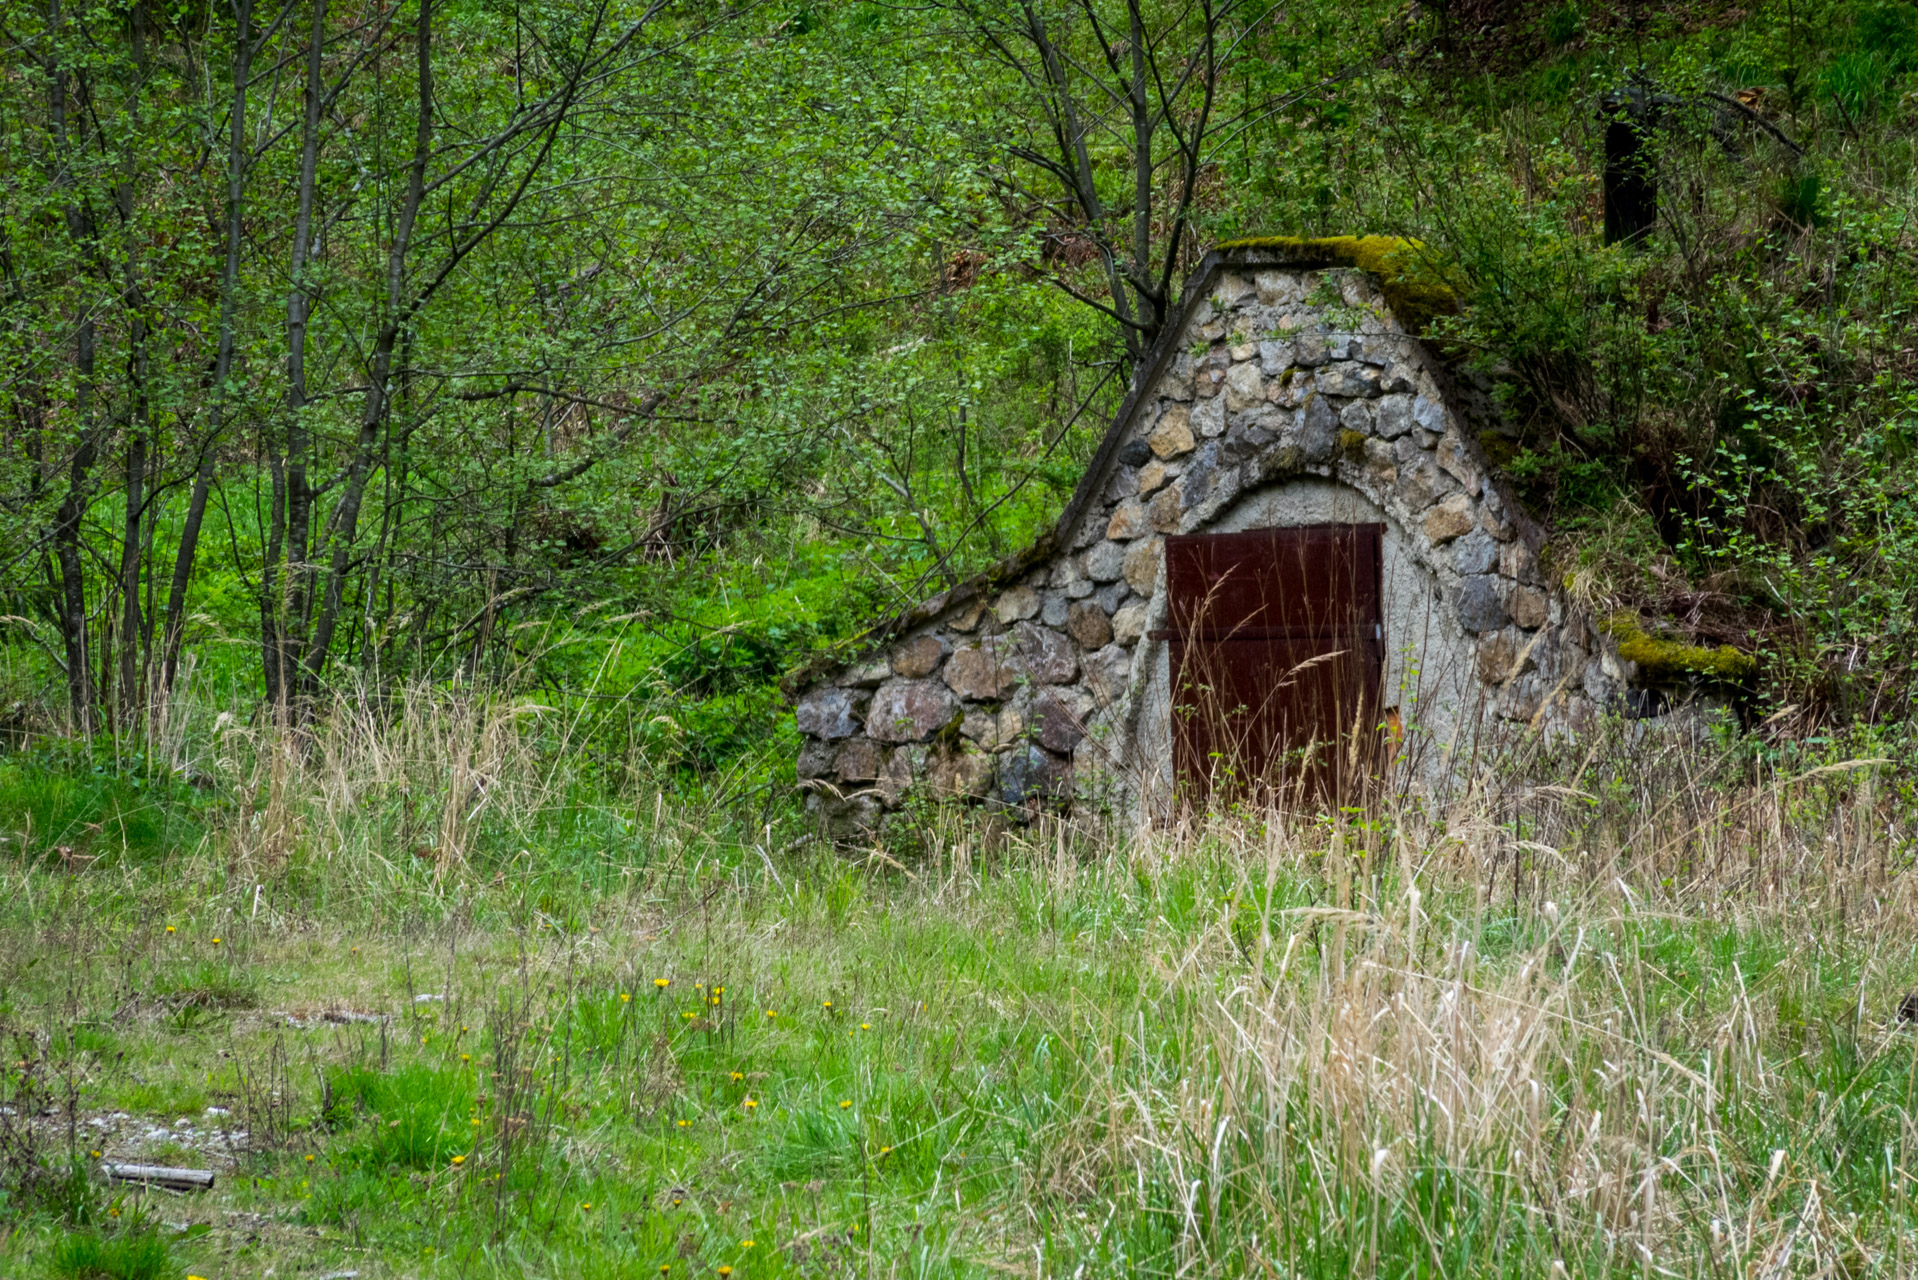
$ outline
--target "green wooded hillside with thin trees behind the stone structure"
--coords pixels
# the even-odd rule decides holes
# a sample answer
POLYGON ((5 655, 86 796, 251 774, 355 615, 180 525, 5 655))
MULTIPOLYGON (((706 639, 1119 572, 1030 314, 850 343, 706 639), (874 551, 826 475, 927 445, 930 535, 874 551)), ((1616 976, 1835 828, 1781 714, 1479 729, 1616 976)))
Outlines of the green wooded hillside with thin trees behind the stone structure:
POLYGON ((1759 652, 1788 750, 1908 712, 1903 0, 48 0, 4 38, 15 733, 125 760, 182 699, 464 681, 577 710, 608 781, 760 787, 779 674, 1030 539, 1206 246, 1348 232, 1456 282, 1582 599, 1759 652), (1661 217, 1605 244, 1630 86, 1661 217))

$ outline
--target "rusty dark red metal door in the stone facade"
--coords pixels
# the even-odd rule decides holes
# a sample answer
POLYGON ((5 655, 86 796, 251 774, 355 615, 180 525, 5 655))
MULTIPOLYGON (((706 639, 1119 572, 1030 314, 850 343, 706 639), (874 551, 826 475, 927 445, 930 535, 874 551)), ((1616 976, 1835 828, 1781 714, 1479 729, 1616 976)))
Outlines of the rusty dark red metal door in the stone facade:
POLYGON ((1375 773, 1381 524, 1166 539, 1181 798, 1343 804, 1375 773))

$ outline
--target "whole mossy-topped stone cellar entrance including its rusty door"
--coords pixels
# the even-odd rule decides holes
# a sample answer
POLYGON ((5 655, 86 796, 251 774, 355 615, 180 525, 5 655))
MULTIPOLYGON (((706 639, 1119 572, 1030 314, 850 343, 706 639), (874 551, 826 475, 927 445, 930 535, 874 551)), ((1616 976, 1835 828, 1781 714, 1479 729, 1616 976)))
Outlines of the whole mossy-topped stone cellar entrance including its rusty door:
POLYGON ((1437 787, 1619 704, 1636 670, 1540 574, 1542 530, 1481 453, 1486 399, 1415 336, 1448 296, 1412 255, 1208 253, 1057 526, 788 685, 821 816, 871 827, 919 793, 1162 818, 1231 723, 1254 770, 1283 775, 1316 723, 1300 777, 1345 758, 1437 787))

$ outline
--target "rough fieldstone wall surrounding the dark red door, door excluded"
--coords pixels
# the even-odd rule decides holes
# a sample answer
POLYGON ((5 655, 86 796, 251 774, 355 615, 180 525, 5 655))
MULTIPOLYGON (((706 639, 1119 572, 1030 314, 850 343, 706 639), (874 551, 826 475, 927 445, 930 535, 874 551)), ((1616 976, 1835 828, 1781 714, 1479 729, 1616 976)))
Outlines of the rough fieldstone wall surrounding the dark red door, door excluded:
POLYGON ((1630 672, 1542 580, 1536 526, 1490 478, 1463 397, 1369 276, 1226 259, 1189 297, 1040 555, 802 689, 798 771, 836 827, 877 823, 915 787, 1162 810, 1166 662, 1149 633, 1164 535, 1304 524, 1341 493, 1383 518, 1404 580, 1389 626, 1417 652, 1389 697, 1425 781, 1479 758, 1488 733, 1575 729, 1621 693, 1630 672), (1408 687, 1440 652, 1442 697, 1408 687))

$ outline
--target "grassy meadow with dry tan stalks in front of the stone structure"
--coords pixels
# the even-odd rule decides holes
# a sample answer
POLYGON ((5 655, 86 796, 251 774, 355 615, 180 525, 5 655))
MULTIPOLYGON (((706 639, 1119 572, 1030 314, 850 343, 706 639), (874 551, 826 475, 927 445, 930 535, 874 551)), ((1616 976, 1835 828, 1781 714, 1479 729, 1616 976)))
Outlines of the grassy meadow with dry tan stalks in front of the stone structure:
POLYGON ((1882 764, 834 848, 539 722, 0 758, 0 1274, 1918 1270, 1882 764))

